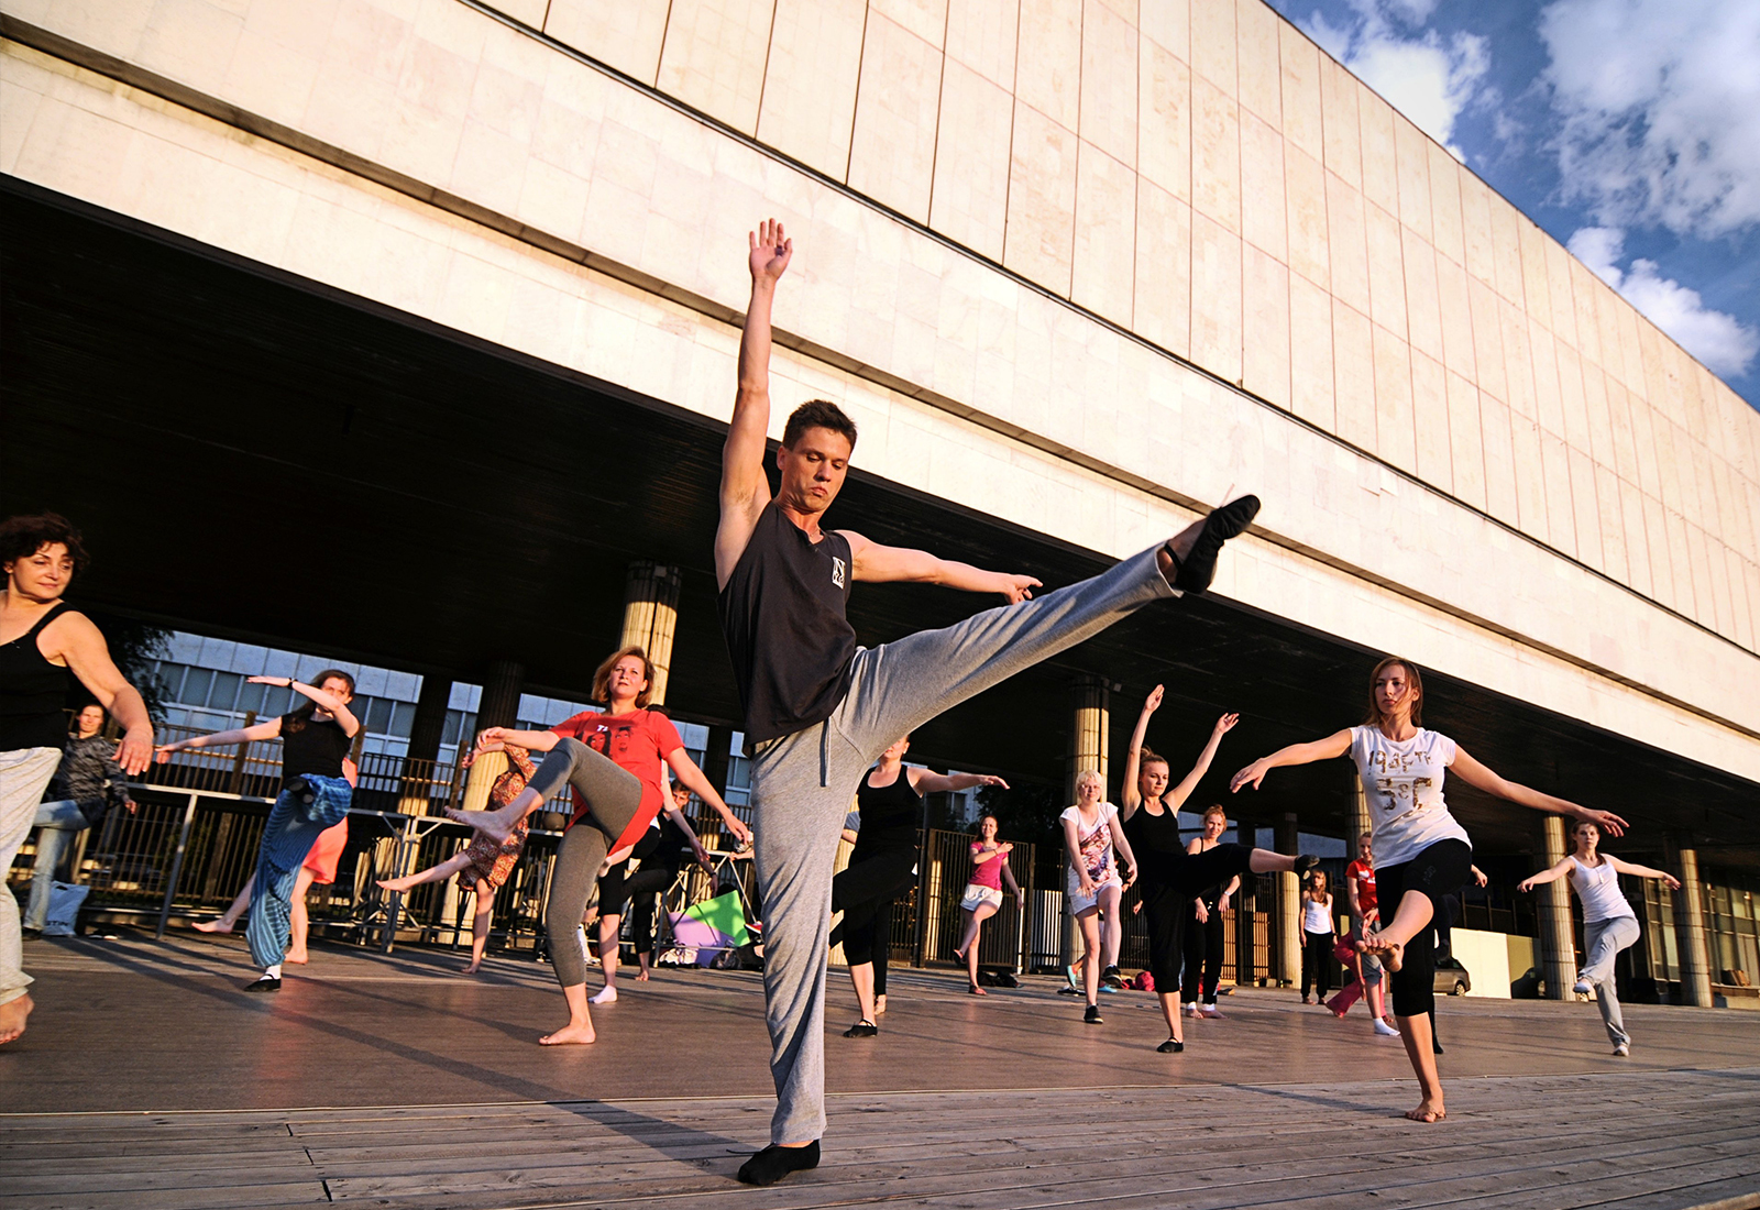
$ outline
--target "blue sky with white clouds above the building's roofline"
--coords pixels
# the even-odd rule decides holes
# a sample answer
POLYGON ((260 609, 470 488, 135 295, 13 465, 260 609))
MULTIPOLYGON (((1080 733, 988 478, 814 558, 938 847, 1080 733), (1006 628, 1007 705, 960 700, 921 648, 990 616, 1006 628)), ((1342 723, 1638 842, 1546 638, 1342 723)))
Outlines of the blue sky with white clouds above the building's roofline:
POLYGON ((1760 408, 1760 0, 1269 0, 1760 408))

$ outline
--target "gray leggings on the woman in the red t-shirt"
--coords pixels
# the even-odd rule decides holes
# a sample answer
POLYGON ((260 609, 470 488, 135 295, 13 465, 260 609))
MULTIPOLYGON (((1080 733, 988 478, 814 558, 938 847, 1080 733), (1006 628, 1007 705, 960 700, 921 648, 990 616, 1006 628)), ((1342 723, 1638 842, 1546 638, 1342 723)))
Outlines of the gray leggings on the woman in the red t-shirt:
POLYGON ((586 804, 586 813, 563 834, 556 849, 556 872, 551 874, 551 893, 544 904, 551 966, 556 969, 556 981, 567 988, 586 983, 586 959, 576 941, 576 929, 581 927, 586 900, 598 883, 598 867, 605 864, 605 853, 642 805, 642 783, 577 739, 560 740, 532 774, 526 788, 539 791, 549 802, 561 791, 563 783, 574 786, 586 804))

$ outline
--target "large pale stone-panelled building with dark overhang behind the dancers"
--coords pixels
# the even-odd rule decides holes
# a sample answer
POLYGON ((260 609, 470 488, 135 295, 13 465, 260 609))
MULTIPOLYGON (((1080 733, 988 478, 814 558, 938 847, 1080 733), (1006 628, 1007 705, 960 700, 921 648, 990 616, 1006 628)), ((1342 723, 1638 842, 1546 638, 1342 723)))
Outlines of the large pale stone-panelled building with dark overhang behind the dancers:
MULTIPOLYGON (((1737 969, 1707 895, 1753 973, 1760 417, 1260 0, 0 12, 5 505, 79 514, 95 598, 512 709, 671 594, 669 700, 730 725, 708 535, 776 215, 774 420, 862 426, 843 524, 1058 584, 1265 498, 1213 600, 919 754, 1056 779, 1167 681, 1160 746, 1241 709, 1244 763, 1399 651, 1427 721, 1697 862, 1658 974, 1737 969)), ((1343 767, 1278 783, 1230 809, 1350 830, 1343 767)), ((1561 842, 1457 800, 1489 856, 1561 842)))

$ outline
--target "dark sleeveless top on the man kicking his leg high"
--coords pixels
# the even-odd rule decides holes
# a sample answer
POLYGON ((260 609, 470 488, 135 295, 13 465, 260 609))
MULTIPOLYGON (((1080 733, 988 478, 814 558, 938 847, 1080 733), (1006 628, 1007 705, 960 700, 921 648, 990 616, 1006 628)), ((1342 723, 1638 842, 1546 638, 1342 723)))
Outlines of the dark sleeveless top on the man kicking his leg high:
POLYGON ((744 709, 746 754, 831 718, 850 689, 855 630, 843 616, 854 559, 843 535, 818 543, 764 505, 718 612, 744 709))

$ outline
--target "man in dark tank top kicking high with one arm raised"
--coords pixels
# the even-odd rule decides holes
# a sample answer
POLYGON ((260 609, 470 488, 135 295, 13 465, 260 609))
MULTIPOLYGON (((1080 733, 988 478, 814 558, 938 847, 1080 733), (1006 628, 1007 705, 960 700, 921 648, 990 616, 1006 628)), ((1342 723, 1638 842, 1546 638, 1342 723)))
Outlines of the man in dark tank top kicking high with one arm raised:
POLYGON ((767 1185, 818 1164, 824 1113, 824 997, 831 869, 857 779, 899 735, 1135 609, 1202 593, 1227 538, 1258 501, 1243 496, 1167 543, 1081 584, 1033 598, 1031 575, 984 572, 885 547, 820 521, 848 473, 855 424, 834 403, 788 417, 771 498, 771 304, 794 243, 774 220, 750 237, 752 304, 739 341, 739 392, 722 450, 715 577, 752 756, 755 858, 764 899, 764 995, 776 1115, 771 1147, 739 1178, 767 1185), (884 647, 859 647, 845 617, 855 580, 919 580, 996 593, 1001 609, 884 647))

